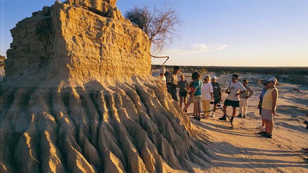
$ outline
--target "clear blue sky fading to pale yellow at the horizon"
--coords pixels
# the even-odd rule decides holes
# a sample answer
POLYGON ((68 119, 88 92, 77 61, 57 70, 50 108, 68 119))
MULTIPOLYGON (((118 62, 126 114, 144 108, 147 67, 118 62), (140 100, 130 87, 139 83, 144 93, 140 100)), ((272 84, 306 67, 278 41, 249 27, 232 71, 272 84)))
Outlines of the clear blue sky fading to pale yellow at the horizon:
MULTIPOLYGON (((12 42, 9 30, 54 1, 0 0, 0 55, 12 42)), ((170 56, 168 65, 308 66, 308 0, 118 0, 117 7, 124 14, 164 3, 184 21, 181 39, 160 54, 170 56)))

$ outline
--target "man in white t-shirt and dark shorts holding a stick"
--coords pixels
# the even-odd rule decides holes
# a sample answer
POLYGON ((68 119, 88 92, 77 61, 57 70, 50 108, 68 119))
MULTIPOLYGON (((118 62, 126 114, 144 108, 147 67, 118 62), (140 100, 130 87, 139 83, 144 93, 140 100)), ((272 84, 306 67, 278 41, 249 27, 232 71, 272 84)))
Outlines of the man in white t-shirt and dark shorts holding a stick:
POLYGON ((220 120, 226 120, 227 118, 227 107, 232 106, 233 112, 231 117, 231 122, 233 121, 233 118, 236 114, 236 108, 239 107, 239 95, 246 92, 245 87, 240 83, 237 82, 238 75, 233 74, 232 75, 232 82, 230 82, 228 89, 225 91, 228 94, 227 99, 224 103, 224 116, 220 117, 220 120))

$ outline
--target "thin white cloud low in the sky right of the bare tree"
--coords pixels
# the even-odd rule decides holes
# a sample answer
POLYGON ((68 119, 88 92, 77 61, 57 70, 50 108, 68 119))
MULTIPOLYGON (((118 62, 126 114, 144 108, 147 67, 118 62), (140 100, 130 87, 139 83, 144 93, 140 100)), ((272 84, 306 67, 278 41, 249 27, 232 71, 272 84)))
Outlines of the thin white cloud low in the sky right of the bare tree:
POLYGON ((203 43, 187 45, 180 49, 173 49, 166 51, 164 54, 167 55, 187 55, 187 54, 197 54, 208 51, 219 51, 227 48, 228 45, 205 45, 203 43))

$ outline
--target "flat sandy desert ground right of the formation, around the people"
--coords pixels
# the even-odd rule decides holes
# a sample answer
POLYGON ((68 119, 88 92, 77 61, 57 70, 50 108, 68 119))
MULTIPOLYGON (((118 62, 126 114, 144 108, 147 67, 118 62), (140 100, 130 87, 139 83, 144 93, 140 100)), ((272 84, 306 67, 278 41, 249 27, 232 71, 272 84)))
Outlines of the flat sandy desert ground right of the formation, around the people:
MULTIPOLYGON (((156 75, 158 70, 152 70, 156 75)), ((187 81, 191 81, 191 72, 182 72, 187 81)), ((237 73, 239 81, 248 79, 248 85, 255 91, 249 99, 248 116, 234 118, 231 128, 230 122, 220 121, 222 110, 216 112, 215 117, 201 118, 197 121, 190 118, 194 128, 204 136, 200 140, 207 142, 208 151, 212 157, 213 173, 307 173, 308 154, 302 148, 308 147, 308 129, 303 123, 308 116, 308 85, 284 82, 290 75, 281 76, 279 85, 277 115, 274 117, 273 138, 268 139, 257 134, 256 129, 261 125, 261 117, 257 105, 262 85, 261 79, 271 77, 271 74, 237 73)), ((216 75, 217 81, 227 88, 231 80, 231 73, 221 74, 204 72, 205 75, 216 75)), ((305 76, 307 78, 307 76, 305 76)), ((179 75, 178 75, 179 78, 179 75)), ((180 78, 178 79, 180 80, 180 78)), ((298 82, 296 82, 298 83, 298 82)), ((223 94, 223 101, 227 94, 223 94)), ((223 104, 222 104, 223 105, 223 104)), ((191 113, 193 106, 188 109, 191 113)), ((231 108, 228 108, 231 115, 231 108)), ((238 109, 237 113, 238 115, 238 109)), ((190 116, 193 117, 193 116, 190 116)))

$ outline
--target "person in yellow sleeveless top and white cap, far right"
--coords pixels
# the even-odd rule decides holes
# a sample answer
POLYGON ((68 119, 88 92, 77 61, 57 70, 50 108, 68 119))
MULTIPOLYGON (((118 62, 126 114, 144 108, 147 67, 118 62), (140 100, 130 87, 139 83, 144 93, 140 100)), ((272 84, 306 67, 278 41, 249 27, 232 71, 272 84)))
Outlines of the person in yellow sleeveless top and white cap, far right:
POLYGON ((267 85, 269 89, 263 96, 261 116, 265 119, 265 132, 261 131, 260 134, 267 138, 272 138, 273 132, 273 117, 276 115, 276 105, 278 98, 278 89, 276 88, 277 79, 275 77, 269 78, 267 85))

